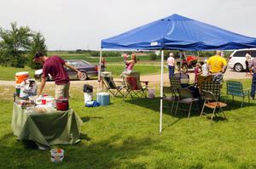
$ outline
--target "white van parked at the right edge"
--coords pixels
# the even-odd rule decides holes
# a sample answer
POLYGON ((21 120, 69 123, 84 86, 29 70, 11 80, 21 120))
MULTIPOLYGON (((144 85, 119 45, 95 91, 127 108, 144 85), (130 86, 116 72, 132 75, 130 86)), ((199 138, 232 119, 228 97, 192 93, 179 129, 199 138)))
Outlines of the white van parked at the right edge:
POLYGON ((245 55, 247 54, 247 51, 251 51, 252 59, 256 57, 256 48, 235 50, 230 55, 230 60, 228 64, 229 68, 232 70, 236 70, 237 72, 246 70, 245 55))

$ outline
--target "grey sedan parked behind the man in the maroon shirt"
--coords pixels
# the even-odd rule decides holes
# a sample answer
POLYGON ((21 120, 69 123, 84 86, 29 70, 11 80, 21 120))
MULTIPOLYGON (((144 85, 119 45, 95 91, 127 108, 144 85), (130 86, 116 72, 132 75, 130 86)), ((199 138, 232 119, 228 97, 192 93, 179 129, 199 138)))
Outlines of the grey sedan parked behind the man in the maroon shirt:
MULTIPOLYGON (((72 65, 75 67, 77 70, 81 71, 83 73, 82 77, 77 76, 77 72, 70 70, 66 68, 67 74, 70 79, 76 80, 79 79, 80 81, 84 81, 88 79, 89 76, 98 76, 98 66, 97 65, 92 65, 89 62, 82 60, 82 59, 67 59, 65 60, 68 65, 72 65)), ((43 75, 43 70, 35 70, 35 78, 36 79, 41 79, 43 75)), ((48 76, 47 80, 53 80, 52 76, 48 76)))

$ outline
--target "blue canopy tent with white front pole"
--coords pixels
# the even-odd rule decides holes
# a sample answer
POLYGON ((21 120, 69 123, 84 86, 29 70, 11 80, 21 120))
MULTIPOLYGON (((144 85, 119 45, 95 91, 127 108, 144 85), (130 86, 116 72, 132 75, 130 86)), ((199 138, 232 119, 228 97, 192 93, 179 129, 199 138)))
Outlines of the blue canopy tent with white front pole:
MULTIPOLYGON (((256 38, 246 37, 191 20, 178 14, 172 14, 126 31, 118 36, 102 40, 102 48, 123 50, 161 50, 160 98, 163 97, 163 50, 228 50, 256 48, 256 38)), ((102 58, 102 52, 100 62, 102 58)), ((160 132, 162 130, 162 99, 160 99, 160 132)))

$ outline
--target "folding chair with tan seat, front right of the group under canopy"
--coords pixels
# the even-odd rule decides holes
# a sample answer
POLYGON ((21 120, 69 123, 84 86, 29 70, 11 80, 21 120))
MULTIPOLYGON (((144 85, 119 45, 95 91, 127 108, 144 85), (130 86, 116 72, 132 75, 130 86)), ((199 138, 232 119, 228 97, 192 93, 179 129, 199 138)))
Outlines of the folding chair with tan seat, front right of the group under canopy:
POLYGON ((227 104, 219 102, 218 99, 216 98, 216 96, 214 95, 214 93, 212 93, 212 92, 202 90, 202 94, 203 94, 203 98, 204 98, 204 104, 203 104, 203 107, 201 110, 201 115, 204 113, 205 107, 208 107, 210 109, 213 109, 211 121, 212 121, 213 115, 216 115, 215 114, 216 109, 221 110, 221 112, 224 115, 224 118, 227 120, 227 118, 224 114, 224 110, 222 109, 223 107, 227 106, 227 104))

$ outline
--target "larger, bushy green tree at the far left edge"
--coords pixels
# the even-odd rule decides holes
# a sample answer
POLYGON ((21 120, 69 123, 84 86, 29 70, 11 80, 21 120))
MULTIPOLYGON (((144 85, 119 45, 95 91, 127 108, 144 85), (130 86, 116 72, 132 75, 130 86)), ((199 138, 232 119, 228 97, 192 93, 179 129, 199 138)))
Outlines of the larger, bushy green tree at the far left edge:
POLYGON ((32 32, 27 26, 17 27, 16 22, 11 23, 10 30, 0 28, 2 65, 24 67, 26 64, 26 50, 30 47, 32 32))

